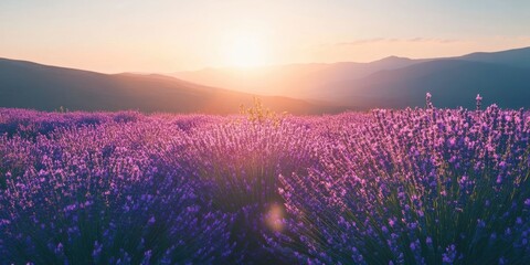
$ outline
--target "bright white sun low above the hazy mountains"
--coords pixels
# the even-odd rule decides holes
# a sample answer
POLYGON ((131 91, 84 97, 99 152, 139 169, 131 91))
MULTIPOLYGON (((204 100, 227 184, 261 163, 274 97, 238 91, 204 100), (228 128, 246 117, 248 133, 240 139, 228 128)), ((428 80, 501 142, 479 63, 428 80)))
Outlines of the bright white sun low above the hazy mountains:
POLYGON ((265 40, 257 34, 235 35, 225 50, 227 63, 236 67, 259 66, 267 59, 265 40))

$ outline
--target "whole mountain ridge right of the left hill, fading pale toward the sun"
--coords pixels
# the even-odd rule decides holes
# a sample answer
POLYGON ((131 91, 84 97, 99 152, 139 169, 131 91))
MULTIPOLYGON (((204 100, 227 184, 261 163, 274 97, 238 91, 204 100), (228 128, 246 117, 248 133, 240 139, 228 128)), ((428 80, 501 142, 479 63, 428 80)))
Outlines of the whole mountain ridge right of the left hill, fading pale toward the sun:
POLYGON ((288 78, 264 85, 266 81, 278 80, 274 71, 269 72, 273 74, 259 80, 251 76, 244 85, 232 82, 234 76, 241 80, 244 75, 234 71, 209 70, 208 74, 198 71, 172 76, 232 89, 327 100, 357 109, 424 106, 426 92, 433 94, 438 107, 473 108, 477 94, 484 96, 485 105, 530 107, 530 47, 455 57, 389 56, 371 63, 320 64, 311 71, 292 68, 288 78), (209 80, 209 75, 216 78, 209 80))

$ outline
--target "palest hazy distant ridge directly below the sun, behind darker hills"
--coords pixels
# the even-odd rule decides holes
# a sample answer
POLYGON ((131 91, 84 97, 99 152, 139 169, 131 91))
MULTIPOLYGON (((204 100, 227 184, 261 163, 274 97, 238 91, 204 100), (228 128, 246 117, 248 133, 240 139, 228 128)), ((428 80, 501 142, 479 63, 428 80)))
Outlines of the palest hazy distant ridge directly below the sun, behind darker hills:
POLYGON ((205 68, 168 74, 208 86, 225 87, 263 95, 321 99, 327 84, 363 77, 381 70, 412 65, 423 60, 390 56, 371 63, 288 64, 252 68, 205 68))

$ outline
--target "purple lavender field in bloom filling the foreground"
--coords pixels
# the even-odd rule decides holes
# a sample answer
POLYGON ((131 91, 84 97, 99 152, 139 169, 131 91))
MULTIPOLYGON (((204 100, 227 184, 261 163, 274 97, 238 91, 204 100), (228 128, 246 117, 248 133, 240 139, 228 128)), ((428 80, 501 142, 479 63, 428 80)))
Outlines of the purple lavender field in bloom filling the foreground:
POLYGON ((0 109, 0 264, 529 264, 529 241, 523 110, 0 109))

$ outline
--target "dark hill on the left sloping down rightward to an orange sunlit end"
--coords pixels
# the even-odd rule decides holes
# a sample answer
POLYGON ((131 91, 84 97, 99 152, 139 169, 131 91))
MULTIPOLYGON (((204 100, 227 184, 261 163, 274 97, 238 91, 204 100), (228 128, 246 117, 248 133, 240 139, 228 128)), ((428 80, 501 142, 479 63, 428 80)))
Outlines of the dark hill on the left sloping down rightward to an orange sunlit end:
MULTIPOLYGON (((108 75, 0 59, 0 107, 230 114, 237 113, 241 104, 251 106, 254 96, 163 75, 108 75)), ((259 98, 276 112, 340 110, 282 96, 259 98)))

